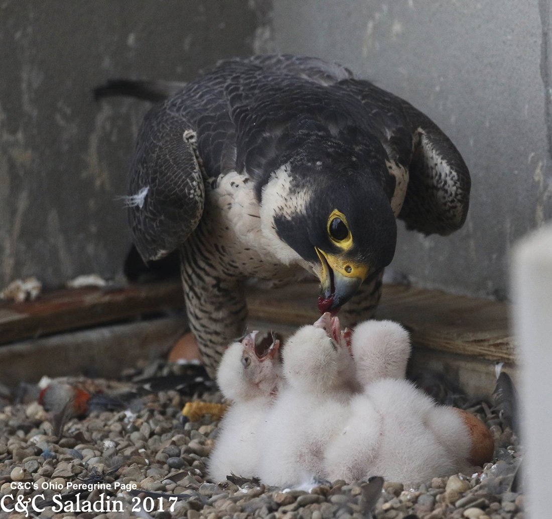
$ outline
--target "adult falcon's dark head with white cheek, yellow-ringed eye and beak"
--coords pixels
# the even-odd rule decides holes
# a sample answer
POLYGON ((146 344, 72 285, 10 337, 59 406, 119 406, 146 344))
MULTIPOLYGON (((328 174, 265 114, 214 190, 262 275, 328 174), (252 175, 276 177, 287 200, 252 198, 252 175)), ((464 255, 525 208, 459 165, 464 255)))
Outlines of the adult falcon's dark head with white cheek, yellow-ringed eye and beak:
POLYGON ((327 159, 288 163, 262 194, 263 230, 277 234, 280 260, 317 275, 321 312, 339 310, 395 254, 395 180, 383 169, 374 175, 349 166, 336 169, 327 159))

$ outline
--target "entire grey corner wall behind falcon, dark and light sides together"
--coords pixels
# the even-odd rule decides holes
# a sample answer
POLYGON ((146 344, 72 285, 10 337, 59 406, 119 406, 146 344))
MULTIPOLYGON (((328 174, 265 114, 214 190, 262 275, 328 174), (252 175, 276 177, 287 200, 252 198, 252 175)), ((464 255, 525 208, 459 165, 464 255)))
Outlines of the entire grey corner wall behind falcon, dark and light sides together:
POLYGON ((4 1, 0 286, 121 269, 130 238, 115 197, 146 106, 95 103, 94 85, 282 51, 340 61, 448 133, 473 176, 468 221, 448 238, 401 229, 392 269, 503 297, 511 244, 552 216, 549 29, 546 0, 4 1))

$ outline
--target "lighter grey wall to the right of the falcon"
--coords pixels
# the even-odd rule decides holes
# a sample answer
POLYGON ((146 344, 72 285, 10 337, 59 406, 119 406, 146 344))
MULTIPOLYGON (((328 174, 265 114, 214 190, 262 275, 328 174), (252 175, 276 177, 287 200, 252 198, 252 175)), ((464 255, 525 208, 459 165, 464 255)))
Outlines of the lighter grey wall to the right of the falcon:
POLYGON ((275 0, 277 51, 336 60, 404 97, 470 167, 451 237, 401 229, 392 268, 418 285, 507 291, 508 251, 552 217, 550 2, 275 0))

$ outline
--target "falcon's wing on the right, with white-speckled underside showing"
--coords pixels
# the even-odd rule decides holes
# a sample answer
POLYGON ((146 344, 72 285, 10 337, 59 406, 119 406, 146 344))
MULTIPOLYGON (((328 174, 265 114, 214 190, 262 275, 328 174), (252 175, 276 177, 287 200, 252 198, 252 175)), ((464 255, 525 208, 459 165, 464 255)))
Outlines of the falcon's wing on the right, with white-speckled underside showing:
POLYGON ((370 112, 369 124, 388 151, 390 173, 398 181, 397 171, 407 170, 406 195, 398 214, 407 228, 447 235, 462 227, 471 180, 447 135, 410 103, 368 81, 344 80, 337 86, 357 96, 370 112))

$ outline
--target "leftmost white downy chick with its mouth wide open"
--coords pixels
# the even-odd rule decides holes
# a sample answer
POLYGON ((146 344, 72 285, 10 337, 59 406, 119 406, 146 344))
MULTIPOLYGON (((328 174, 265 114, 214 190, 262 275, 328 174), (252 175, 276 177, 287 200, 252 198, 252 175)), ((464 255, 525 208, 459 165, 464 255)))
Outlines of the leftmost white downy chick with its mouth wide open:
POLYGON ((225 481, 226 476, 257 476, 262 445, 259 423, 279 390, 281 365, 279 340, 272 334, 252 332, 229 346, 217 371, 217 384, 231 400, 220 424, 220 433, 209 457, 209 476, 225 481))

